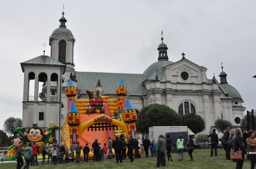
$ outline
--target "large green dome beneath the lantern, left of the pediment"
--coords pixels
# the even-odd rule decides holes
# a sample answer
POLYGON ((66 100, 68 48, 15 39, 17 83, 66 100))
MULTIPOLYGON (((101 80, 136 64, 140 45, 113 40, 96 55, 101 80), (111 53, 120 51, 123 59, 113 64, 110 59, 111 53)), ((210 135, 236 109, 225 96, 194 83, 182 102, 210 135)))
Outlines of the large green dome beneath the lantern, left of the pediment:
POLYGON ((159 79, 161 79, 164 75, 163 67, 173 64, 174 62, 163 59, 151 64, 143 73, 143 81, 144 80, 155 80, 155 75, 158 75, 159 79), (153 76, 151 76, 153 75, 153 76))

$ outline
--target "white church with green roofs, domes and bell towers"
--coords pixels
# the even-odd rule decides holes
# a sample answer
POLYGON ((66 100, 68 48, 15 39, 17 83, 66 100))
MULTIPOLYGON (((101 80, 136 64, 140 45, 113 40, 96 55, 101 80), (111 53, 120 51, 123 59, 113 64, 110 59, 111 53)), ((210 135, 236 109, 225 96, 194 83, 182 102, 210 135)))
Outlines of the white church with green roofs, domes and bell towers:
MULTIPOLYGON (((152 103, 168 105, 179 115, 195 113, 205 120, 206 132, 210 132, 218 118, 239 126, 245 107, 239 92, 227 81, 227 74, 219 74, 220 82, 206 77, 207 69, 183 57, 172 62, 168 47, 159 44, 156 62, 143 74, 99 73, 75 71, 73 51, 75 38, 66 28, 67 20, 62 13, 60 26, 49 38, 51 56, 38 56, 21 63, 24 72, 22 126, 38 123, 48 127, 49 122, 62 126, 67 114, 65 88, 71 78, 77 87, 78 99, 87 99, 86 90, 100 90, 101 95, 117 98, 116 87, 122 78, 127 96, 139 113, 143 106, 152 103), (35 81, 34 96, 29 96, 31 80, 35 81), (39 86, 42 82, 42 87, 39 86), (39 93, 39 94, 38 94, 39 93)), ((57 139, 60 138, 57 134, 57 139)))

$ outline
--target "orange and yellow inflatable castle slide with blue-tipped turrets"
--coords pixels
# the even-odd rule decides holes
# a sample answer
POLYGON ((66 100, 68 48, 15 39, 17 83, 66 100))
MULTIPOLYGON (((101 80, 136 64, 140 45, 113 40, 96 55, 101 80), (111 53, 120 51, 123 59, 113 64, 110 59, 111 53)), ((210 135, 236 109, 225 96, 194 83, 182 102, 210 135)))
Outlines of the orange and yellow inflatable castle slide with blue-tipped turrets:
MULTIPOLYGON (((106 143, 108 146, 108 137, 114 140, 121 134, 137 136, 137 114, 128 98, 125 99, 127 88, 122 78, 116 87, 117 99, 102 96, 99 90, 86 90, 86 93, 88 99, 75 99, 76 87, 69 79, 66 87, 68 112, 62 128, 62 142, 67 151, 74 150, 77 142, 82 147, 88 143, 91 148, 96 138, 102 145, 106 143)), ((92 157, 90 152, 89 158, 92 157)))

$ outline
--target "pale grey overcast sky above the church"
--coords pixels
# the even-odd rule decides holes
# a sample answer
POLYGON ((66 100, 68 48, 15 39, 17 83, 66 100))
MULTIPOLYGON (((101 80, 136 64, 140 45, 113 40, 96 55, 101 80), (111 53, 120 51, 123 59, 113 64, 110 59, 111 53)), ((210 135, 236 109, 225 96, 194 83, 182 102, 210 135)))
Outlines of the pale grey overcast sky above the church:
MULTIPOLYGON (((256 109, 256 1, 3 0, 0 129, 8 117, 22 118, 20 63, 43 55, 42 44, 49 44, 60 25, 63 3, 66 26, 76 39, 76 71, 142 74, 157 61, 163 30, 169 60, 177 62, 184 52, 186 59, 207 68, 208 79, 215 73, 218 81, 223 62, 243 106, 256 109)), ((50 56, 49 45, 45 50, 50 56)))

